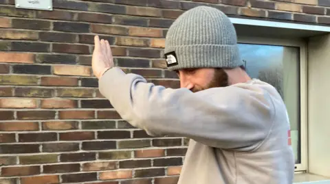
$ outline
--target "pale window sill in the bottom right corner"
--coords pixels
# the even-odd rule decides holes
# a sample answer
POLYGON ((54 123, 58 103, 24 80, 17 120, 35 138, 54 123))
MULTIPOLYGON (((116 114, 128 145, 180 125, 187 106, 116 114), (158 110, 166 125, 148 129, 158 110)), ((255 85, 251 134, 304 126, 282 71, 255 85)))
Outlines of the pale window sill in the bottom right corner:
POLYGON ((294 174, 294 184, 330 184, 330 178, 316 174, 294 174))

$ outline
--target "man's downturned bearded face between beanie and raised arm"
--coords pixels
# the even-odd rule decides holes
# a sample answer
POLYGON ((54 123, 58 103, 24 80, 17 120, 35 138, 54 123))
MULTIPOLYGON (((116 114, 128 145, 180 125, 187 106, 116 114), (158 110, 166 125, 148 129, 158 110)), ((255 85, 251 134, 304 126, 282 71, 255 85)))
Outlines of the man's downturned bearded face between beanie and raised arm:
POLYGON ((228 75, 221 68, 191 68, 177 70, 180 87, 192 92, 228 86, 228 75))

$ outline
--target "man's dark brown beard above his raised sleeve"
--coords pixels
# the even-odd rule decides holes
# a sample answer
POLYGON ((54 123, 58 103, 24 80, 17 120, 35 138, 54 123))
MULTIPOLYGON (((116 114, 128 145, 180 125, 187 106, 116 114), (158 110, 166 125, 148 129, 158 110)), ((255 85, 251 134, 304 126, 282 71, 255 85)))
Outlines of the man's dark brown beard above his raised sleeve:
POLYGON ((209 88, 219 88, 219 87, 226 87, 229 86, 228 82, 228 75, 225 73, 225 70, 222 68, 215 68, 214 75, 210 83, 208 83, 205 87, 203 88, 192 88, 192 92, 199 92, 201 90, 206 90, 209 88))

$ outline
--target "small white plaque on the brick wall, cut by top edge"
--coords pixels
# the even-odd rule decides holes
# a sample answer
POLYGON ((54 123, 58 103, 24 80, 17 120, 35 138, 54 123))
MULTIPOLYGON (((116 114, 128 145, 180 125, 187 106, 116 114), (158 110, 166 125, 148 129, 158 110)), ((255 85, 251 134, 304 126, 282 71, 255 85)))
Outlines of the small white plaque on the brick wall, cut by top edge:
POLYGON ((15 0, 16 8, 53 10, 52 0, 15 0))

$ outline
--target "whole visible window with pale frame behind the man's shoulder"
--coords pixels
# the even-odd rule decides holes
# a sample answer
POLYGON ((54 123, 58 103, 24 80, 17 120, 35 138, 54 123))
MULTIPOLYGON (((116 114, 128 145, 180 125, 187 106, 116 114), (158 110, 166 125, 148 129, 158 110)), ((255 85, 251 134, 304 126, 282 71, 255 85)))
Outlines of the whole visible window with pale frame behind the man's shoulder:
POLYGON ((272 84, 283 97, 291 125, 296 171, 306 170, 306 48, 298 40, 239 39, 241 60, 252 78, 272 84))

